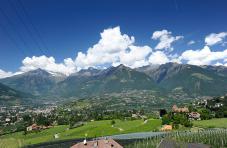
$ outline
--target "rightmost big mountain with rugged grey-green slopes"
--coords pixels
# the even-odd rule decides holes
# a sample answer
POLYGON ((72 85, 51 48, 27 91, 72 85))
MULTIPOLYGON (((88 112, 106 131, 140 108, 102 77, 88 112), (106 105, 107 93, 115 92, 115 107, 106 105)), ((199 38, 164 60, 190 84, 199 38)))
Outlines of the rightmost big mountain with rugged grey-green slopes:
POLYGON ((146 72, 168 91, 182 89, 191 96, 227 93, 227 68, 167 63, 146 72))

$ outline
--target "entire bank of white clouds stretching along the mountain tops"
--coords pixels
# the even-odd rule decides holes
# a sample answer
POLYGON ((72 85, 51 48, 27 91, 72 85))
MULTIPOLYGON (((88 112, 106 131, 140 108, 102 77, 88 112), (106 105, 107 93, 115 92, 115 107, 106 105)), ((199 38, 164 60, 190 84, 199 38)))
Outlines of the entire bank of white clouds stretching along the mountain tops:
MULTIPOLYGON (((10 77, 27 71, 41 68, 50 73, 70 75, 80 69, 88 67, 104 68, 110 65, 124 64, 131 68, 148 64, 165 64, 167 62, 188 63, 193 65, 223 65, 227 66, 227 49, 212 51, 210 46, 224 44, 227 32, 212 33, 205 39, 206 46, 198 50, 186 50, 182 54, 173 54, 172 44, 183 36, 173 36, 167 30, 155 31, 153 40, 159 40, 155 50, 150 46, 138 46, 134 36, 123 34, 120 27, 108 28, 100 33, 99 41, 88 48, 86 52, 78 52, 75 59, 66 58, 57 63, 54 57, 33 56, 26 57, 22 61, 19 71, 12 73, 0 69, 0 78, 10 77)), ((187 44, 192 45, 191 40, 187 44)))

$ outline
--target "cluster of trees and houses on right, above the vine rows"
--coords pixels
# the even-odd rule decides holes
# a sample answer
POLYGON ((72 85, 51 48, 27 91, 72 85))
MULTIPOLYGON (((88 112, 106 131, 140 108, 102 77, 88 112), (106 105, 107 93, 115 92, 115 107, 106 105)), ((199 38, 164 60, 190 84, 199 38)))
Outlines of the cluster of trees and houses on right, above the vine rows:
POLYGON ((194 101, 188 107, 173 105, 171 111, 160 110, 163 127, 161 131, 178 129, 179 126, 192 127, 193 120, 227 117, 227 96, 194 101))

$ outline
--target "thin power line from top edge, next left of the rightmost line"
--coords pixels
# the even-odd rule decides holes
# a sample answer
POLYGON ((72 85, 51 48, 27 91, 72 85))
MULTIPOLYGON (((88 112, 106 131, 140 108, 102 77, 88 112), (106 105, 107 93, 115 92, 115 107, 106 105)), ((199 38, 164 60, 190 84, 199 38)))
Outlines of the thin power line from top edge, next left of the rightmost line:
POLYGON ((22 24, 24 25, 24 27, 26 28, 28 34, 31 36, 31 39, 33 40, 33 42, 37 45, 38 50, 40 50, 40 52, 42 54, 44 54, 42 47, 40 46, 40 44, 38 43, 38 41, 36 40, 36 38, 34 37, 32 31, 29 29, 29 26, 25 23, 25 21, 23 20, 23 18, 19 15, 19 11, 17 10, 17 8, 15 7, 14 4, 12 4, 12 2, 10 0, 8 0, 11 7, 15 10, 17 17, 19 18, 19 20, 22 22, 22 24))

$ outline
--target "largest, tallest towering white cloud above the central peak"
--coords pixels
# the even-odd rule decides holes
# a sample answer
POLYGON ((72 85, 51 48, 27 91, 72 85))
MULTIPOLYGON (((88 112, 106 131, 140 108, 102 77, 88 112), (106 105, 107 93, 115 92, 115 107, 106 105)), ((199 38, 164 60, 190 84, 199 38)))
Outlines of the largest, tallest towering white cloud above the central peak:
POLYGON ((118 63, 136 67, 146 63, 146 56, 152 51, 149 46, 135 46, 135 38, 122 34, 120 27, 105 29, 101 39, 86 53, 79 52, 75 63, 79 68, 118 63))

